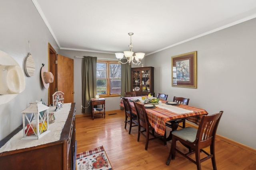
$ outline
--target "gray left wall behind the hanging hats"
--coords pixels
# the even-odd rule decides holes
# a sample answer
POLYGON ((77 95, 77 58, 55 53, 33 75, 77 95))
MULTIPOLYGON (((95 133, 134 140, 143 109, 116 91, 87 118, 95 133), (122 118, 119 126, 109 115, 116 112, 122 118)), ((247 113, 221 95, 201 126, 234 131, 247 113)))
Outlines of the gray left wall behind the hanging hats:
POLYGON ((0 105, 0 140, 2 140, 22 124, 20 112, 28 107, 30 102, 41 98, 48 102, 48 90, 41 84, 40 69, 42 63, 48 68, 48 43, 57 52, 58 46, 31 0, 2 0, 0 30, 0 50, 12 56, 23 69, 24 59, 29 52, 28 41, 30 41, 30 52, 36 66, 34 76, 25 75, 25 90, 10 102, 0 105))

